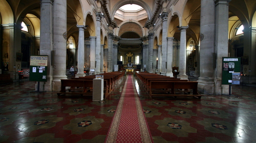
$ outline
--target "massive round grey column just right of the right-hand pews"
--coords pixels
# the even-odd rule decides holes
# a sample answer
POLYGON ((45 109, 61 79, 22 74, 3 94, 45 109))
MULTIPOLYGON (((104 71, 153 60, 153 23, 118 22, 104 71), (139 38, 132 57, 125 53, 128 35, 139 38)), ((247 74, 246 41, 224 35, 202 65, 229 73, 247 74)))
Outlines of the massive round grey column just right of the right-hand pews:
POLYGON ((198 90, 204 94, 214 93, 214 37, 215 37, 215 3, 201 0, 200 20, 200 77, 198 90))

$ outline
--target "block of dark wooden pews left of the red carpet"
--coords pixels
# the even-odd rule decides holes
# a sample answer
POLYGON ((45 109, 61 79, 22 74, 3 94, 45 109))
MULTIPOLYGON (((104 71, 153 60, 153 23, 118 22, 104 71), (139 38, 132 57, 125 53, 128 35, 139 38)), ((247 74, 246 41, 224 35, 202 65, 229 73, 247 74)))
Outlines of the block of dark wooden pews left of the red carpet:
MULTIPOLYGON (((104 97, 108 97, 109 93, 120 83, 124 72, 114 71, 111 73, 103 73, 98 75, 103 75, 104 83, 104 97)), ((92 96, 93 95, 93 79, 96 75, 71 78, 71 79, 61 79, 61 89, 57 92, 58 96, 65 96, 66 94, 80 94, 81 96, 92 96)))

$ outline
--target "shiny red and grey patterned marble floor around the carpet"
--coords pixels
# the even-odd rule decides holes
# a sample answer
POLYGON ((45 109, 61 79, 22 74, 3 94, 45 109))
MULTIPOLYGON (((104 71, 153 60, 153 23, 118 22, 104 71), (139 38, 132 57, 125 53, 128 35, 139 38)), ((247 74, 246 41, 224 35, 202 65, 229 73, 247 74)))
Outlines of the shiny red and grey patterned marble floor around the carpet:
MULTIPOLYGON (((109 99, 35 93, 35 82, 0 84, 0 142, 104 142, 123 82, 109 99)), ((233 86, 237 97, 150 100, 138 85, 154 142, 256 142, 256 89, 233 86)))

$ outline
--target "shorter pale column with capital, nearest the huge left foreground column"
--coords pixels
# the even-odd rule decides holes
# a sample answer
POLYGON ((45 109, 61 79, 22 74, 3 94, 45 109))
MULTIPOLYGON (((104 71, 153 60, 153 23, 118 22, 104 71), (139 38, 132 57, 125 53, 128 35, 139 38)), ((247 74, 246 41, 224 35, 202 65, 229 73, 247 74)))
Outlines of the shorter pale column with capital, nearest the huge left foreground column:
POLYGON ((77 74, 76 77, 83 77, 84 73, 84 29, 85 26, 76 26, 79 29, 79 37, 78 37, 78 52, 77 52, 77 74))

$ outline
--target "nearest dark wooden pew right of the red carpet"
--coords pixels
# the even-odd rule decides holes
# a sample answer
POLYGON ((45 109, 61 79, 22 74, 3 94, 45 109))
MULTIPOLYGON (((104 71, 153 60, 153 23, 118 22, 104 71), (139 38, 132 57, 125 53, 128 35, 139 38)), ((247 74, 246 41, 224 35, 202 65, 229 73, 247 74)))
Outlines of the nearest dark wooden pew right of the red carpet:
POLYGON ((198 82, 191 81, 150 81, 149 93, 151 98, 201 99, 198 82))

